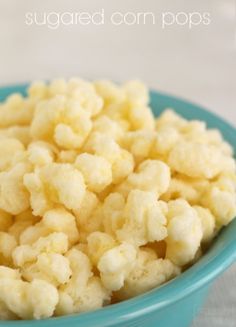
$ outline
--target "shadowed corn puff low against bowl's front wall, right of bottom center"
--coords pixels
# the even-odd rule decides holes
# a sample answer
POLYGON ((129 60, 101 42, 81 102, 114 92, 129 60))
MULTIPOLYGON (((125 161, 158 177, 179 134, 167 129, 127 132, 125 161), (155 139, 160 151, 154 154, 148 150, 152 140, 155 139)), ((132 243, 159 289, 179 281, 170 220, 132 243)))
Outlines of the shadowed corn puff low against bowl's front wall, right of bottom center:
POLYGON ((122 289, 116 293, 119 300, 150 291, 180 273, 178 266, 168 259, 153 258, 148 251, 139 250, 133 270, 129 273, 122 289))

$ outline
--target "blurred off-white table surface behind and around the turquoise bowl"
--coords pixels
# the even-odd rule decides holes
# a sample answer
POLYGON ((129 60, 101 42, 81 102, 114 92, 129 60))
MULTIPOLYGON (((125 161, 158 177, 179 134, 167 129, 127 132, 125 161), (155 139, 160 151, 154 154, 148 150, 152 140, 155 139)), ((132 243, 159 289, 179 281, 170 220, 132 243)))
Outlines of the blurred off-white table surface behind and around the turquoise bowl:
MULTIPOLYGON (((39 17, 39 16, 38 16, 39 17)), ((236 125, 233 0, 0 0, 0 85, 81 76, 149 86, 207 107, 236 125), (209 12, 208 26, 160 24, 47 26, 25 23, 27 12, 209 12)), ((220 277, 194 327, 236 325, 236 265, 220 277)))

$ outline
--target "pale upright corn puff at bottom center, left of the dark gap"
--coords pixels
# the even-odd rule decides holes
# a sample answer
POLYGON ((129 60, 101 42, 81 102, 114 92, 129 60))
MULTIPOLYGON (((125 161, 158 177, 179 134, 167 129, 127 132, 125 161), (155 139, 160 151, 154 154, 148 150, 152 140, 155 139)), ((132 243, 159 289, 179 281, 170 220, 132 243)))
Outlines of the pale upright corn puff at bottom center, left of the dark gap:
POLYGON ((134 267, 135 258, 135 247, 125 242, 106 251, 97 266, 103 285, 110 291, 123 287, 125 278, 134 267))

